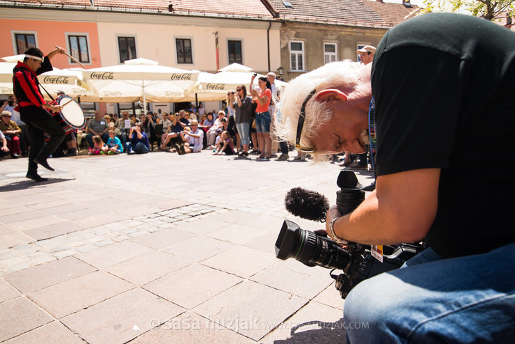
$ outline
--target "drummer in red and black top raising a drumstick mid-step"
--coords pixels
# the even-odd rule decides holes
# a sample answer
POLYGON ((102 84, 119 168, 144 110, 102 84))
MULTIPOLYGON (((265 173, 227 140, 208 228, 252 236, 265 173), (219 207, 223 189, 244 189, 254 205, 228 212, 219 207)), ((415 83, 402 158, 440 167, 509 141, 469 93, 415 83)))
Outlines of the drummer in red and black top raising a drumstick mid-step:
POLYGON ((47 56, 43 56, 40 49, 31 47, 26 49, 23 62, 18 62, 13 73, 13 88, 18 99, 20 117, 27 125, 29 137, 31 138, 31 149, 29 150, 29 169, 26 178, 35 182, 44 182, 47 178, 38 175, 38 164, 54 171, 49 166, 47 159, 61 144, 65 132, 47 110, 61 111, 60 105, 47 104, 39 89, 38 75, 52 70, 50 60, 56 54, 64 54, 65 49, 56 47, 47 56), (50 139, 45 143, 43 133, 49 134, 50 139))

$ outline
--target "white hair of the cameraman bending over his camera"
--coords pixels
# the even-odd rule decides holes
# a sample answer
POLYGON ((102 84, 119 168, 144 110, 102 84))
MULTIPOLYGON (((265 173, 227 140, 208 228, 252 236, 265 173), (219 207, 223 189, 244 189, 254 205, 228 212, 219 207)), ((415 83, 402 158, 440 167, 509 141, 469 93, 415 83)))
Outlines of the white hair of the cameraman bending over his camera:
MULTIPOLYGON (((275 122, 277 136, 294 144, 299 114, 306 97, 313 90, 318 93, 336 86, 354 88, 363 75, 362 67, 360 63, 350 60, 332 62, 290 81, 275 97, 276 114, 280 114, 276 116, 275 122)), ((301 146, 312 146, 310 139, 315 136, 317 129, 333 116, 333 111, 328 109, 325 103, 315 101, 315 97, 316 94, 306 104, 301 146)))

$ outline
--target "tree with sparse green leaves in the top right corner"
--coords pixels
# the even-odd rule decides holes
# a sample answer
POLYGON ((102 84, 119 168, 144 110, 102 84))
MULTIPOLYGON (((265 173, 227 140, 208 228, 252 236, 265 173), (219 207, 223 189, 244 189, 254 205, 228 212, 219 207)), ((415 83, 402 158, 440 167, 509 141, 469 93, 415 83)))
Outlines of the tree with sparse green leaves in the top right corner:
POLYGON ((466 12, 484 19, 500 19, 515 13, 514 0, 424 0, 422 12, 466 12))

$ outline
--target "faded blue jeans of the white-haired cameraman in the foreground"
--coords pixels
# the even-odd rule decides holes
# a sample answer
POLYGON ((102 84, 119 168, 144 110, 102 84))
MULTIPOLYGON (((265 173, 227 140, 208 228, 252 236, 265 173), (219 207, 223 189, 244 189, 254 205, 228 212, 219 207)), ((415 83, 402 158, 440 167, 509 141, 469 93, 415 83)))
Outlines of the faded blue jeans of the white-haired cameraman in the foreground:
POLYGON ((450 259, 427 249, 349 293, 347 343, 513 343, 514 266, 515 244, 450 259))

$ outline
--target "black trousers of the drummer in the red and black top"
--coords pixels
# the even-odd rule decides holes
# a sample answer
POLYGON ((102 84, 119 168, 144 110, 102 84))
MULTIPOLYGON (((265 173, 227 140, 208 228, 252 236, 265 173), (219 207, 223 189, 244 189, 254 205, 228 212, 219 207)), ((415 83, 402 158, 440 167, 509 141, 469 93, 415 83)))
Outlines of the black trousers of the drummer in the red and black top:
POLYGON ((36 173, 38 164, 34 162, 34 158, 38 157, 40 160, 46 160, 63 142, 66 134, 63 127, 45 109, 35 106, 22 107, 19 114, 27 125, 27 131, 31 139, 28 173, 36 173), (47 143, 45 143, 44 133, 50 136, 47 143))

